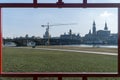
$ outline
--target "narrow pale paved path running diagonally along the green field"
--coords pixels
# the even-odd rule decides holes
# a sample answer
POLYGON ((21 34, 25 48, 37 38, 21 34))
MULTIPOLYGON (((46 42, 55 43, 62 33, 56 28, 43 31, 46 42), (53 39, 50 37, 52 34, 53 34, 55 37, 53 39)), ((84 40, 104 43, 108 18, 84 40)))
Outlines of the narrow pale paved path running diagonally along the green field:
POLYGON ((19 47, 19 48, 27 48, 27 49, 41 49, 41 50, 54 50, 54 51, 66 51, 66 52, 78 52, 78 53, 92 53, 92 54, 103 54, 103 55, 114 55, 117 56, 117 53, 109 53, 109 52, 95 52, 95 51, 81 51, 81 50, 68 50, 68 49, 52 49, 52 48, 30 48, 30 47, 19 47))

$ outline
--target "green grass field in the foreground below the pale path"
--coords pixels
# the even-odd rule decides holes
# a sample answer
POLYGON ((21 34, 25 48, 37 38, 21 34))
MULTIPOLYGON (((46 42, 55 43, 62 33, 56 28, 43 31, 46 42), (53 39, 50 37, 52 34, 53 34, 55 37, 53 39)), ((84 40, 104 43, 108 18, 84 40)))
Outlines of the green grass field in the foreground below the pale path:
MULTIPOLYGON (((67 47, 66 49, 70 49, 70 47, 69 48, 67 47)), ((108 51, 106 50, 107 49, 103 51, 109 52, 112 49, 109 49, 108 51)), ((115 50, 113 49, 112 52, 117 52, 117 51, 116 49, 115 50)), ((101 55, 101 54, 84 54, 84 53, 63 52, 63 51, 47 51, 47 50, 39 50, 32 48, 24 49, 24 48, 4 47, 3 71, 4 72, 116 72, 117 56, 101 55)), ((90 80, 114 80, 114 79, 95 78, 90 80)), ((17 80, 17 79, 11 79, 11 80, 17 80)), ((29 79, 21 79, 21 80, 29 80, 29 79)), ((78 80, 78 79, 72 79, 72 80, 78 80)), ((120 79, 115 79, 115 80, 120 80, 120 79)))

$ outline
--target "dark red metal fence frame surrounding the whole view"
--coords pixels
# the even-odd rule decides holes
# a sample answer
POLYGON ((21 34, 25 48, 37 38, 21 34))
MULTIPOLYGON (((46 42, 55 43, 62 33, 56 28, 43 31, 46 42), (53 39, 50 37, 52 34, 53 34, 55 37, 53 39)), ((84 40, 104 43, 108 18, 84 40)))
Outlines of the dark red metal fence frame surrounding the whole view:
POLYGON ((64 3, 58 0, 57 3, 0 3, 0 77, 31 77, 38 80, 39 77, 81 77, 88 80, 89 77, 120 77, 120 3, 64 3), (118 72, 2 72, 2 8, 118 8, 118 72))

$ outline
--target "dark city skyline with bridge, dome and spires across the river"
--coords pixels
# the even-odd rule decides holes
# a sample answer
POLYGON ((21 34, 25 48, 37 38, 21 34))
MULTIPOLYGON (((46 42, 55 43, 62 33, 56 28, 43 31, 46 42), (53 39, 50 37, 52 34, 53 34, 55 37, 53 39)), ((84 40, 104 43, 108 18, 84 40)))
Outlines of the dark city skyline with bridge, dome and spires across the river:
POLYGON ((53 25, 43 25, 43 27, 46 27, 46 32, 43 35, 43 38, 26 34, 22 37, 4 38, 4 43, 13 41, 19 46, 27 45, 27 41, 28 43, 36 43, 37 45, 118 44, 118 34, 111 33, 108 29, 107 22, 105 22, 104 29, 96 30, 96 23, 93 21, 92 29, 82 37, 79 34, 74 34, 71 29, 68 33, 59 35, 59 37, 51 37, 48 32, 50 26, 53 25))

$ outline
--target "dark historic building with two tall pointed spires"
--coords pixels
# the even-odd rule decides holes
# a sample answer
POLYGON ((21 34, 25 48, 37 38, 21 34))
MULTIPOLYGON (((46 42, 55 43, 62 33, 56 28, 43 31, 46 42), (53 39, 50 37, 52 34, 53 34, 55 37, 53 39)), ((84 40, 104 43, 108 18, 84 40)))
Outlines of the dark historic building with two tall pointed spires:
POLYGON ((111 35, 110 31, 108 30, 107 23, 105 22, 103 30, 96 31, 95 21, 93 21, 92 26, 92 32, 89 30, 89 33, 83 38, 83 42, 87 44, 107 44, 111 35))

